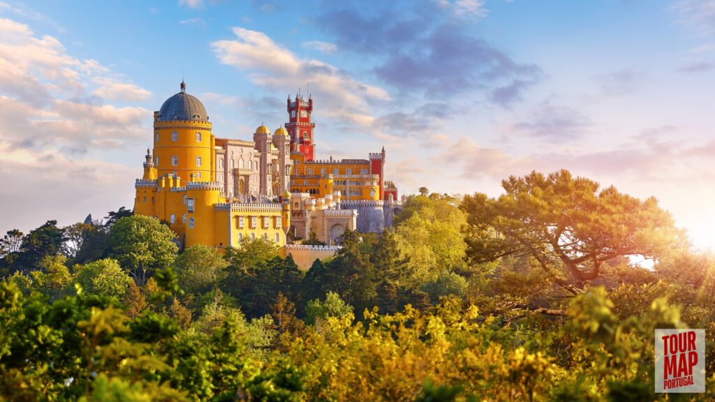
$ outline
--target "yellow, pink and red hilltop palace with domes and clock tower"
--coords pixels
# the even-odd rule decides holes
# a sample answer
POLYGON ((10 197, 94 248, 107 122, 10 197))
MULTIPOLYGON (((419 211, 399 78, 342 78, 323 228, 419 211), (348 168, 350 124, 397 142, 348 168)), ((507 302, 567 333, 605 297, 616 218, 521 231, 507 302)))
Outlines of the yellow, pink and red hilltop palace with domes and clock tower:
POLYGON ((182 82, 154 112, 134 213, 168 222, 180 247, 240 247, 262 237, 302 268, 334 254, 347 229, 389 227, 401 205, 385 180, 385 148, 367 159, 318 160, 312 96, 289 96, 286 109, 288 122, 272 133, 261 125, 252 141, 218 138, 182 82), (308 239, 325 246, 300 245, 308 239))

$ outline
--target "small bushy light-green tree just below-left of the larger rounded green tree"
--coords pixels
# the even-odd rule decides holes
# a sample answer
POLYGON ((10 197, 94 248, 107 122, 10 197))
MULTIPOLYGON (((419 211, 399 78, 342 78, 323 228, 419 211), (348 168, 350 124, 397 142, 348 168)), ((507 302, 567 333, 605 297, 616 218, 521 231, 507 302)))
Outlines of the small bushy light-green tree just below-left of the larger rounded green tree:
POLYGON ((122 298, 131 285, 132 278, 122 270, 117 260, 105 258, 86 265, 75 265, 77 276, 74 283, 82 286, 84 292, 122 298))

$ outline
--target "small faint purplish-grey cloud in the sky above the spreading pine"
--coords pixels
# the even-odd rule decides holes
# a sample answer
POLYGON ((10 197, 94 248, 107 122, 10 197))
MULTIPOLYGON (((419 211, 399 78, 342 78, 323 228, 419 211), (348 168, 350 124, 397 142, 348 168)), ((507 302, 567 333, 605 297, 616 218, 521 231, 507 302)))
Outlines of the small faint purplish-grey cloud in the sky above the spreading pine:
POLYGON ((531 137, 573 139, 581 137, 591 125, 591 120, 576 109, 546 100, 532 109, 529 119, 511 127, 531 137))

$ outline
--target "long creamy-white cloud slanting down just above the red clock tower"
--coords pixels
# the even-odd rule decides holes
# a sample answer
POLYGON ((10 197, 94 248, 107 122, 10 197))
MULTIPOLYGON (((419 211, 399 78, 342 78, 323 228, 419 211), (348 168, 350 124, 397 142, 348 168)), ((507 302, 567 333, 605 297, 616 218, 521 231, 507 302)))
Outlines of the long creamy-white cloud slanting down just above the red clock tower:
POLYGON ((330 64, 302 59, 259 31, 234 28, 236 39, 215 41, 213 52, 222 64, 250 71, 253 84, 270 89, 305 88, 324 102, 325 115, 363 126, 374 117, 368 104, 390 99, 385 90, 358 82, 330 64))

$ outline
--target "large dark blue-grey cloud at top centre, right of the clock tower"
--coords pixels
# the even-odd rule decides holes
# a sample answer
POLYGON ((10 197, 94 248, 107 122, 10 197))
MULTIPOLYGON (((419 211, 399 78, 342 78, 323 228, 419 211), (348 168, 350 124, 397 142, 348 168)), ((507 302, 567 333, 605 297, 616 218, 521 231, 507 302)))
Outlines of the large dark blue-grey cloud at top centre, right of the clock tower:
POLYGON ((483 16, 483 1, 390 2, 370 14, 341 5, 317 17, 322 29, 341 50, 376 56, 373 72, 405 94, 477 92, 508 107, 543 79, 541 68, 517 62, 454 18, 483 16))

